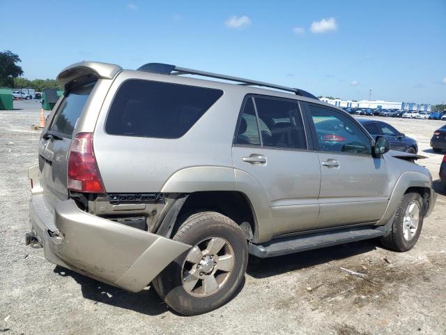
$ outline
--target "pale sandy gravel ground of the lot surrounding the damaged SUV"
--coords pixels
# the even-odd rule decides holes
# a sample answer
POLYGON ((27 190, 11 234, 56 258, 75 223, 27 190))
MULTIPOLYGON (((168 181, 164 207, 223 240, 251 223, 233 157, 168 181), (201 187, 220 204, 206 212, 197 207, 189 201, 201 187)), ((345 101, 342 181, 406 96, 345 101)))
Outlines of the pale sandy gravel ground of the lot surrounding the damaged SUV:
MULTIPOLYGON (((446 334, 446 192, 415 248, 393 253, 371 241, 259 260, 217 311, 171 313, 151 288, 137 294, 56 267, 24 246, 26 168, 37 162, 35 101, 0 111, 0 332, 5 334, 446 334), (352 276, 341 268, 363 274, 352 276), (311 289, 310 289, 311 288, 311 289)), ((415 137, 438 179, 443 156, 429 139, 444 122, 385 118, 415 137)))

